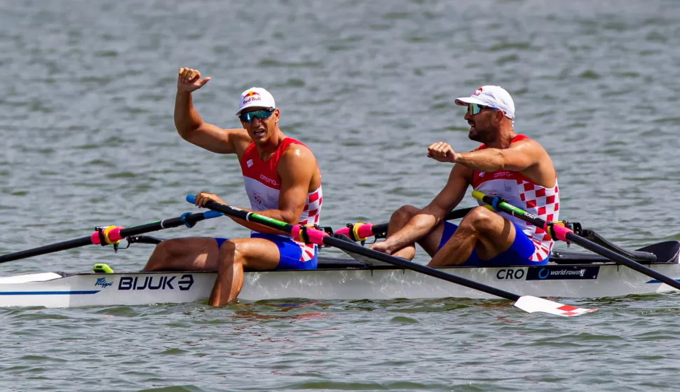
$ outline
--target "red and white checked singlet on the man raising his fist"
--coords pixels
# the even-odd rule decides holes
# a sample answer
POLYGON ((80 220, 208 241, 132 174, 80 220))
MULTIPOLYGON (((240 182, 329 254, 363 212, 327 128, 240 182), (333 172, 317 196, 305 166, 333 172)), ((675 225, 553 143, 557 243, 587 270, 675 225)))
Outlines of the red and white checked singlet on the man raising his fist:
MULTIPOLYGON (((262 161, 257 154, 255 144, 250 142, 240 158, 245 192, 250 199, 250 209, 257 211, 277 210, 278 197, 281 191, 281 178, 276 170, 278 161, 290 144, 301 144, 292 137, 281 140, 278 148, 266 161, 262 161)), ((305 146, 306 147, 306 146, 305 146)), ((319 224, 321 216, 322 193, 321 185, 307 194, 304 210, 299 224, 319 224)), ((308 245, 295 241, 302 250, 302 261, 312 259, 316 252, 316 245, 308 245)))

